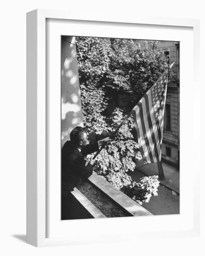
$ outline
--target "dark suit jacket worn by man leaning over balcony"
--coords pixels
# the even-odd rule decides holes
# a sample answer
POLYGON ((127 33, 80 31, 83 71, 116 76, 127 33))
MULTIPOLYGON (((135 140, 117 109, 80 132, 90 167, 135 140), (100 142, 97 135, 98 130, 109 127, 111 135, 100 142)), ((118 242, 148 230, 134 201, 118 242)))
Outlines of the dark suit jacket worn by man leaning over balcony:
POLYGON ((61 154, 61 180, 62 189, 72 191, 76 187, 79 178, 88 178, 93 173, 93 166, 88 164, 84 156, 89 155, 98 150, 97 142, 84 146, 81 152, 75 147, 71 141, 66 141, 61 154))

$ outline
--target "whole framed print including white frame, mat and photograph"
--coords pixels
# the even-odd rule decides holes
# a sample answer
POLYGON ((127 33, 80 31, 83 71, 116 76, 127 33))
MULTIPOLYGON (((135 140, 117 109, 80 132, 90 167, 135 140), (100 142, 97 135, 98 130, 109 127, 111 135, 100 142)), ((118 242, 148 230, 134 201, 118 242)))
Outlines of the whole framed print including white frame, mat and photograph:
POLYGON ((198 37, 198 20, 27 13, 27 243, 197 235, 198 37))

